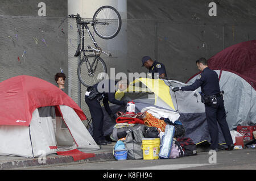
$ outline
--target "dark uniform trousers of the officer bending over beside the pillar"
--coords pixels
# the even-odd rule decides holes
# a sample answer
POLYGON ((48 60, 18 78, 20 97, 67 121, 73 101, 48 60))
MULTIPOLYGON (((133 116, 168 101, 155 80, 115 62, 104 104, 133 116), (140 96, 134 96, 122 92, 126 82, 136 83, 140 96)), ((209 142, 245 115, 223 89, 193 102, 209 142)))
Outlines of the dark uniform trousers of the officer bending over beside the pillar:
POLYGON ((94 98, 92 100, 88 99, 88 96, 85 95, 85 102, 89 107, 90 115, 92 116, 93 121, 93 139, 98 142, 104 140, 103 133, 103 120, 104 114, 101 109, 100 102, 94 98))

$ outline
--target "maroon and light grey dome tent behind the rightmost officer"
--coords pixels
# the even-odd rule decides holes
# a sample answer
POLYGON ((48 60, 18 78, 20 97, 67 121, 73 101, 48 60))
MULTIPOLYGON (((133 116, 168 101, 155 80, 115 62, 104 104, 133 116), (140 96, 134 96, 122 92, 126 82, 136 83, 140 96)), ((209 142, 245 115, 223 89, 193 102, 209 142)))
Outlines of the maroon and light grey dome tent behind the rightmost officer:
MULTIPOLYGON (((256 40, 228 47, 209 58, 208 66, 216 71, 224 100, 227 121, 235 128, 242 121, 256 123, 256 40)), ((193 75, 187 83, 196 81, 193 75)))

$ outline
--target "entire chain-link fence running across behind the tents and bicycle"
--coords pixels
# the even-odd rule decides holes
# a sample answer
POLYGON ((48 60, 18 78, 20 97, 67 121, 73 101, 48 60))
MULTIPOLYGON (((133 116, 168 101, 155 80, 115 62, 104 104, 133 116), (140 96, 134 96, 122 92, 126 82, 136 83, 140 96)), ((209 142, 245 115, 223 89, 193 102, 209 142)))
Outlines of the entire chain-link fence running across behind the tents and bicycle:
MULTIPOLYGON (((99 47, 112 54, 101 54, 109 76, 111 68, 115 68, 115 74, 147 72, 141 67, 141 58, 148 55, 166 66, 170 79, 181 82, 198 72, 197 58, 210 58, 231 45, 256 39, 255 27, 245 23, 122 20, 119 34, 104 40, 89 26, 99 47)), ((79 57, 74 54, 80 36, 75 19, 0 16, 0 37, 0 81, 26 74, 56 85, 54 75, 63 70, 68 77, 65 88, 69 96, 90 120, 84 101, 86 87, 77 78, 79 57)), ((85 48, 87 45, 94 47, 85 32, 85 48)), ((84 124, 88 126, 86 121, 84 124)))

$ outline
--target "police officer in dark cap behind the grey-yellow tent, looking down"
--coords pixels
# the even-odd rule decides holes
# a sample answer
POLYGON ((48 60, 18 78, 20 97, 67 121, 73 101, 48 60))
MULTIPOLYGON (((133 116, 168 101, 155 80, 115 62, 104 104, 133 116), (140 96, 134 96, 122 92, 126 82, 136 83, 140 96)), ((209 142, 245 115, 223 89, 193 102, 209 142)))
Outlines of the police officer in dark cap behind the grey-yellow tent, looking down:
POLYGON ((159 78, 167 78, 166 68, 160 62, 153 61, 149 56, 142 57, 142 66, 146 67, 149 70, 149 73, 152 73, 152 78, 154 73, 159 74, 159 78))

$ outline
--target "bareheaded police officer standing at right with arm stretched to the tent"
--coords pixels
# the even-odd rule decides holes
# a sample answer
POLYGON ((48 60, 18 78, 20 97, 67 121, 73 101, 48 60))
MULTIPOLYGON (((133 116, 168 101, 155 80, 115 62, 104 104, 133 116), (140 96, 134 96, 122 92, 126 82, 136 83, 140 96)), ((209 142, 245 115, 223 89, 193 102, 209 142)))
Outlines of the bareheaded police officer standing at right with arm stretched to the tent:
POLYGON ((194 91, 201 86, 202 102, 205 104, 205 113, 207 116, 207 124, 211 138, 210 148, 218 151, 218 124, 224 135, 227 150, 233 150, 234 144, 229 131, 228 123, 226 122, 226 112, 224 107, 224 100, 222 92, 220 91, 218 74, 209 69, 207 66, 207 60, 200 58, 196 61, 197 67, 201 71, 199 78, 190 85, 185 87, 174 87, 175 91, 194 91), (217 120, 217 121, 216 121, 217 120))

